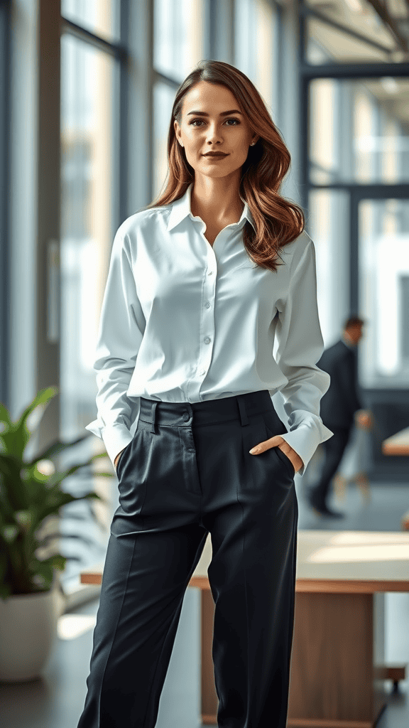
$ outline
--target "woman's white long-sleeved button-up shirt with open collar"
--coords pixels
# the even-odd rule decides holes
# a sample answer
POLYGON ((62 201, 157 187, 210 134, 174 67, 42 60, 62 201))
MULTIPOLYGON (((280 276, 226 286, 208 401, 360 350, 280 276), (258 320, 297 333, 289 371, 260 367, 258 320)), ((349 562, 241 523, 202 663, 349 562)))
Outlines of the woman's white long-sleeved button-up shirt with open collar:
POLYGON ((98 416, 85 429, 114 464, 136 430, 140 397, 194 403, 279 390, 282 438, 301 456, 303 475, 333 435, 319 416, 330 376, 316 365, 324 346, 314 242, 303 232, 286 245, 277 272, 256 266, 243 245, 243 226, 254 221, 242 200, 241 218, 212 247, 191 213, 192 187, 116 232, 94 363, 98 416))

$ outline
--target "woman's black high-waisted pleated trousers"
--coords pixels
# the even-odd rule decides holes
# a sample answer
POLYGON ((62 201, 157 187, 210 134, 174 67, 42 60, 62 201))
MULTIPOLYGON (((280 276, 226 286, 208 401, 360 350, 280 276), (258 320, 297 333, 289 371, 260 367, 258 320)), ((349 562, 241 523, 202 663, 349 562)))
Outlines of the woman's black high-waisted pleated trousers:
POLYGON ((154 728, 183 596, 210 532, 218 725, 285 728, 298 503, 268 390, 199 403, 141 397, 119 459, 78 728, 154 728))

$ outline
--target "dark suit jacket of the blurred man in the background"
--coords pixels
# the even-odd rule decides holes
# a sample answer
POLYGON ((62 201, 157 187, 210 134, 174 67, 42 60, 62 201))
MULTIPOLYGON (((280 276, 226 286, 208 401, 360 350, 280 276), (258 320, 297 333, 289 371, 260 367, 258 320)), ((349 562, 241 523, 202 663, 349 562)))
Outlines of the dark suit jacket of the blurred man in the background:
POLYGON ((351 427, 354 412, 362 409, 357 382, 357 353, 342 339, 322 353, 317 366, 331 378, 330 387, 321 398, 319 414, 330 430, 351 427))

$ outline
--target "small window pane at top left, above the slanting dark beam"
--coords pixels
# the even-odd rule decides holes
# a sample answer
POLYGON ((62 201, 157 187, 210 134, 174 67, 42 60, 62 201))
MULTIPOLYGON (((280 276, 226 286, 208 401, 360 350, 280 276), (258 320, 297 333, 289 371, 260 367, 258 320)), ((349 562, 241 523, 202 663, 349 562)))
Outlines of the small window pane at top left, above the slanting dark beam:
POLYGON ((61 15, 106 40, 119 40, 121 0, 61 0, 61 15))

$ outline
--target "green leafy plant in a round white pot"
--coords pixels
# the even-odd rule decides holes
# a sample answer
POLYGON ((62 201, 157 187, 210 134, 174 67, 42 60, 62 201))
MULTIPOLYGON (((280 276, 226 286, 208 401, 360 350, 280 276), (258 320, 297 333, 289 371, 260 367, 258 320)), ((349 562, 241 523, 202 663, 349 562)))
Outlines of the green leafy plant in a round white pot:
MULTIPOLYGON (((60 515, 61 507, 84 499, 100 524, 91 502, 106 502, 95 491, 76 497, 62 488, 65 478, 91 467, 95 459, 107 457, 105 452, 62 472, 53 462, 53 457, 90 435, 68 443, 55 440, 33 459, 24 458, 28 440, 57 391, 57 387, 41 389, 17 422, 0 403, 0 681, 39 676, 57 632, 56 596, 59 590, 63 592, 57 569, 63 571, 68 558, 74 557, 54 553, 41 558, 41 551, 60 536, 44 535, 44 530, 60 515)), ((114 474, 98 471, 100 476, 112 478, 114 474)))

